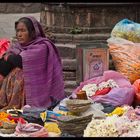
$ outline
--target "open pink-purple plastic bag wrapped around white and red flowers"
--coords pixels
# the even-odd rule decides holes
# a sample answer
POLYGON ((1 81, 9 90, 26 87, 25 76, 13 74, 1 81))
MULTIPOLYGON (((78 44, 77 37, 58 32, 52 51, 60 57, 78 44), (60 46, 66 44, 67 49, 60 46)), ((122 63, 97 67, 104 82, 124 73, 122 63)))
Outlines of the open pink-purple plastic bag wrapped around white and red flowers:
POLYGON ((131 105, 135 94, 133 86, 127 78, 113 70, 105 71, 103 76, 81 82, 80 86, 73 91, 72 95, 75 97, 76 93, 86 84, 99 84, 109 79, 113 79, 118 84, 119 88, 112 88, 110 92, 105 95, 92 96, 92 100, 94 102, 111 104, 113 106, 131 105))

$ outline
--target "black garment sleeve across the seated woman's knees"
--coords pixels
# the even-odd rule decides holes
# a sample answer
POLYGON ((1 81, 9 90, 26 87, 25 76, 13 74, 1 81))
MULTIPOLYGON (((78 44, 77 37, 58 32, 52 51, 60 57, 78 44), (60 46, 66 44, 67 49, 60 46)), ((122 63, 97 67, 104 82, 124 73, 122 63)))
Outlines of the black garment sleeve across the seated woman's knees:
POLYGON ((20 55, 10 55, 7 61, 0 59, 0 74, 7 76, 11 70, 19 67, 22 68, 22 57, 20 55))

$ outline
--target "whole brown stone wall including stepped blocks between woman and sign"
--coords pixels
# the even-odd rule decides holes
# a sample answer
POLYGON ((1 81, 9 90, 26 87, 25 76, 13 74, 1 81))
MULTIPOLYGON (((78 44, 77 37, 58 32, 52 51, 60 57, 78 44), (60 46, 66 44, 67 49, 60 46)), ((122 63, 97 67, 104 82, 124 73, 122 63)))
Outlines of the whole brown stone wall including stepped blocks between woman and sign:
MULTIPOLYGON (((81 42, 102 42, 110 37, 117 22, 128 18, 140 22, 140 4, 43 3, 41 23, 54 35, 59 49, 65 81, 65 92, 71 94, 76 83, 76 45, 81 42), (70 90, 71 89, 71 90, 70 90)), ((110 56, 109 69, 114 69, 110 56)))

